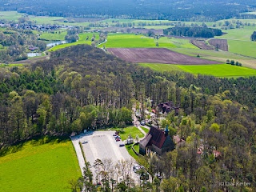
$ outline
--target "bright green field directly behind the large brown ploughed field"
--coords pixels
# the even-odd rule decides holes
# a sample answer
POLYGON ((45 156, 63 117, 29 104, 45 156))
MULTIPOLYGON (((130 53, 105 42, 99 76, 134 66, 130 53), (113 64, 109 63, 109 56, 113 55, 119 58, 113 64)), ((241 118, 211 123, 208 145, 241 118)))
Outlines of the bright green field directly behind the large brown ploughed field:
MULTIPOLYGON (((105 46, 109 47, 157 47, 157 40, 135 34, 109 34, 105 46)), ((103 45, 99 46, 102 47, 103 45)), ((176 47, 170 42, 159 42, 158 47, 176 47)))

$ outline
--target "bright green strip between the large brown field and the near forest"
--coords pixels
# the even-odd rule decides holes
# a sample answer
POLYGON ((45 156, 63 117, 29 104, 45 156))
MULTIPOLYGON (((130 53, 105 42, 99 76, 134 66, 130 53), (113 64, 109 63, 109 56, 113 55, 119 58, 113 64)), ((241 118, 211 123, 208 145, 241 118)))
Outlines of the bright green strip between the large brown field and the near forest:
POLYGON ((185 71, 192 74, 208 74, 216 77, 247 77, 247 76, 255 76, 256 70, 250 69, 248 67, 243 66, 231 66, 227 64, 220 65, 171 65, 171 64, 150 64, 143 63, 141 66, 150 67, 153 70, 158 71, 170 71, 170 70, 179 70, 185 71))

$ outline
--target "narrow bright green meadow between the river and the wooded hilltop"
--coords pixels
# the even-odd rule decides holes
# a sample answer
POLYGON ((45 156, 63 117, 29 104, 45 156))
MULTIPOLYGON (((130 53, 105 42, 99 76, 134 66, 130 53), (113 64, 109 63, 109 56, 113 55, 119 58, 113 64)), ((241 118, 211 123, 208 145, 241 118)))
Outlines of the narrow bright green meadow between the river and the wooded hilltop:
POLYGON ((72 43, 66 43, 66 44, 62 44, 62 45, 58 45, 58 46, 54 46, 53 48, 51 48, 49 51, 51 50, 59 50, 62 48, 65 48, 67 46, 76 46, 78 44, 91 44, 90 39, 93 37, 93 35, 95 34, 95 38, 98 39, 99 36, 97 33, 86 33, 86 34, 79 34, 79 40, 78 42, 72 42, 72 43), (86 41, 87 36, 89 36, 89 40, 86 41))

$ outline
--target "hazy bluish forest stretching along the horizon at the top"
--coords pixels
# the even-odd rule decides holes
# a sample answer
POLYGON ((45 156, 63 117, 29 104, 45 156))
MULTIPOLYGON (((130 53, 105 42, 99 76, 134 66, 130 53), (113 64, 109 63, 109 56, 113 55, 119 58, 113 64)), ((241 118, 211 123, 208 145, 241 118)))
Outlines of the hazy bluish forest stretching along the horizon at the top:
POLYGON ((73 0, 73 1, 0 1, 0 10, 18 10, 18 12, 59 17, 107 17, 169 19, 180 21, 217 21, 225 18, 252 18, 254 15, 239 14, 253 10, 253 0, 73 0))

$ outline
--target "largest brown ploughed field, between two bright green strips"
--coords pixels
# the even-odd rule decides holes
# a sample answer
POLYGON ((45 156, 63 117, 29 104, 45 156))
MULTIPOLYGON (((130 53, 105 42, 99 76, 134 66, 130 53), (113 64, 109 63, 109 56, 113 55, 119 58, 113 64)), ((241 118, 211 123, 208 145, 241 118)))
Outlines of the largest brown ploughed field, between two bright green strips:
POLYGON ((107 50, 118 56, 118 58, 134 63, 163 63, 175 65, 221 64, 221 62, 180 54, 166 48, 107 48, 107 50))

